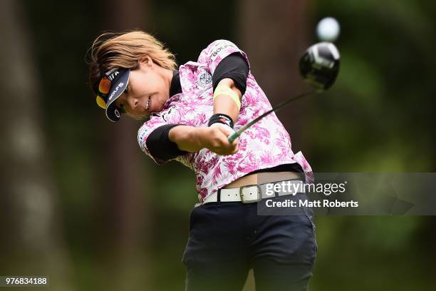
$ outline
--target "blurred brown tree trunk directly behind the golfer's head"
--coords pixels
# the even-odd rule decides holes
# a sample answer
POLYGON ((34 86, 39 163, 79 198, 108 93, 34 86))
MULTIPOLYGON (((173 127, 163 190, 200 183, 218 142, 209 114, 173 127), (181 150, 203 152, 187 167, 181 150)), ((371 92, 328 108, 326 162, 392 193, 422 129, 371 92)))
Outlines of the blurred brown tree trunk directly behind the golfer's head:
MULTIPOLYGON (((111 0, 104 31, 142 29, 150 19, 149 1, 111 0), (116 11, 116 17, 113 17, 116 11)), ((145 31, 147 31, 145 29, 145 31)), ((105 121, 108 144, 108 189, 110 200, 108 220, 112 227, 110 239, 115 250, 113 290, 142 290, 150 285, 150 262, 147 262, 152 212, 150 205, 150 173, 141 166, 145 161, 137 144, 140 123, 122 116, 118 123, 105 121), (147 177, 148 176, 148 177, 147 177), (147 185, 147 188, 145 187, 147 185), (143 193, 143 190, 147 193, 143 193)))

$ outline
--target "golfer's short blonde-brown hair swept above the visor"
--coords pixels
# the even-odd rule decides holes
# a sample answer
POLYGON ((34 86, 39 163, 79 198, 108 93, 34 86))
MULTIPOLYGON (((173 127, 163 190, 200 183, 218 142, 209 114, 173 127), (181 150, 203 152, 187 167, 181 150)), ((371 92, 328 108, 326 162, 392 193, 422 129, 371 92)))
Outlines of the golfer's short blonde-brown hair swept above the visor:
POLYGON ((134 70, 141 56, 150 56, 162 68, 174 70, 177 67, 174 54, 154 36, 140 30, 101 34, 88 52, 89 84, 94 92, 103 73, 115 67, 134 70))

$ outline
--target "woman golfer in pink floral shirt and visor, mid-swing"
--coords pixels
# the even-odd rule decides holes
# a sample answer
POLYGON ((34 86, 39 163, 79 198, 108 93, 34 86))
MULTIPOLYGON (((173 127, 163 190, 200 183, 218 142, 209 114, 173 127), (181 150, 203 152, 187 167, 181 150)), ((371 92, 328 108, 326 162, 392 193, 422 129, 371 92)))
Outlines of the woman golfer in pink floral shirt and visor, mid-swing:
POLYGON ((251 268, 256 290, 306 290, 317 250, 311 210, 259 212, 298 196, 280 185, 311 182, 310 165, 274 113, 227 140, 271 109, 246 53, 218 40, 176 69, 175 56, 144 31, 103 34, 90 52, 90 85, 108 119, 143 119, 145 154, 157 164, 177 160, 197 177, 186 290, 242 290, 251 268))

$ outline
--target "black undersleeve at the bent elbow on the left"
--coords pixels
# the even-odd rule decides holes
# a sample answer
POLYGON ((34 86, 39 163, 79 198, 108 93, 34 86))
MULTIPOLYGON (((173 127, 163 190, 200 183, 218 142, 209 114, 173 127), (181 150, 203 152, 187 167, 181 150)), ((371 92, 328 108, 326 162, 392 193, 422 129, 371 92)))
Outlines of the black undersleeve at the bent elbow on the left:
POLYGON ((166 124, 165 126, 156 128, 150 133, 145 143, 153 157, 159 159, 161 162, 165 162, 179 155, 188 153, 185 150, 180 150, 177 147, 177 143, 170 141, 168 137, 170 129, 179 125, 180 124, 166 124))

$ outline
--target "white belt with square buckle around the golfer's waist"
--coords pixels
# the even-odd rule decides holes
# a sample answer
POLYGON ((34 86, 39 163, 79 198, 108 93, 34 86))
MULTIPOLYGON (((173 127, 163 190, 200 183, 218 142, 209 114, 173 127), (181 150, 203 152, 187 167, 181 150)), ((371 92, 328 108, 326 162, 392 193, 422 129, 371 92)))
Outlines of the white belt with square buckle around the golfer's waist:
MULTIPOLYGON (((204 199, 202 204, 210 202, 242 202, 242 203, 255 203, 263 198, 274 198, 277 195, 295 195, 296 193, 305 193, 304 183, 302 180, 282 180, 271 183, 264 183, 260 185, 246 185, 241 188, 219 189, 217 192, 212 193, 204 199), (275 184, 286 184, 285 187, 276 188, 275 184), (288 186, 289 185, 289 186, 288 186), (267 191, 269 190, 269 191, 267 191), (273 192, 273 193, 269 193, 273 192), (219 197, 219 199, 218 199, 219 197)), ((199 206, 198 203, 196 206, 199 206)))

